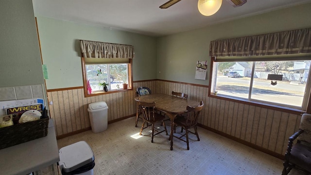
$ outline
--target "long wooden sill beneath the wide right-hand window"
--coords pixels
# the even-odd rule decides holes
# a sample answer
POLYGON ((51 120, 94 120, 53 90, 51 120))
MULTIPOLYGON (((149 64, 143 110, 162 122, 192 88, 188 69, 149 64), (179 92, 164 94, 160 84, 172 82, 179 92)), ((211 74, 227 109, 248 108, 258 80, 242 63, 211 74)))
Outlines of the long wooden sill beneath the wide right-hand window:
POLYGON ((225 95, 209 94, 208 97, 217 98, 217 99, 221 99, 221 100, 227 100, 227 101, 231 101, 231 102, 242 103, 242 104, 245 104, 245 105, 254 105, 254 106, 268 108, 268 109, 273 109, 273 110, 278 110, 278 111, 282 111, 282 112, 288 112, 288 113, 296 114, 296 115, 301 115, 303 113, 306 113, 306 111, 301 110, 301 109, 295 109, 295 108, 291 108, 291 107, 285 107, 285 106, 279 106, 279 105, 272 105, 272 104, 266 104, 266 103, 261 103, 261 102, 255 102, 255 101, 250 101, 250 100, 247 100, 247 99, 228 97, 228 96, 225 96, 225 95))

